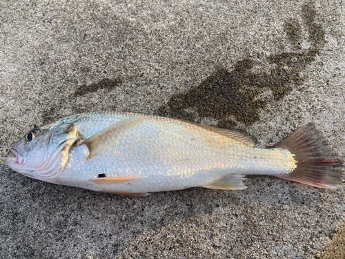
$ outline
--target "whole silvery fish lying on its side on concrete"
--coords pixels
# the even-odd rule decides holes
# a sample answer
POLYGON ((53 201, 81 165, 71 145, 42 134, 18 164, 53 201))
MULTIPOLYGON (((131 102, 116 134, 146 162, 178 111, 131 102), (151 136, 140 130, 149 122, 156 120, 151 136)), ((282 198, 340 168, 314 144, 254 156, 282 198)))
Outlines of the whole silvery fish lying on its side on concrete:
POLYGON ((342 165, 313 123, 259 148, 242 131, 115 111, 34 128, 11 151, 8 166, 30 178, 134 196, 197 186, 243 190, 246 175, 336 189, 333 168, 342 165))

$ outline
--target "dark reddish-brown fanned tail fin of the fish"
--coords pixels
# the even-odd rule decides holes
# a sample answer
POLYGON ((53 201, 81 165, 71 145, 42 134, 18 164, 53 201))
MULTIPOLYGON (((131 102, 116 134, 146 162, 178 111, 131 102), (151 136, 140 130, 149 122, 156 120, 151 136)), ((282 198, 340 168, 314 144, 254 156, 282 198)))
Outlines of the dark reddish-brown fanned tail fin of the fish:
POLYGON ((313 123, 299 128, 275 147, 287 149, 297 160, 297 167, 290 175, 275 176, 319 188, 340 187, 339 175, 333 167, 341 166, 342 162, 331 157, 331 148, 313 123))

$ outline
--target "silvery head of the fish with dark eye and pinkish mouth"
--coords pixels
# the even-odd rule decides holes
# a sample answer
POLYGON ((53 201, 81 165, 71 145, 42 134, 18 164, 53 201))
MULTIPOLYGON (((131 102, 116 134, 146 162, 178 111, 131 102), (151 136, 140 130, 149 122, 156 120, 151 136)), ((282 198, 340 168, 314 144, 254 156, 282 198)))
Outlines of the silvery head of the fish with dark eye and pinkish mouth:
POLYGON ((6 163, 18 173, 45 180, 54 178, 68 162, 72 146, 79 140, 75 124, 48 125, 34 128, 14 144, 6 163))

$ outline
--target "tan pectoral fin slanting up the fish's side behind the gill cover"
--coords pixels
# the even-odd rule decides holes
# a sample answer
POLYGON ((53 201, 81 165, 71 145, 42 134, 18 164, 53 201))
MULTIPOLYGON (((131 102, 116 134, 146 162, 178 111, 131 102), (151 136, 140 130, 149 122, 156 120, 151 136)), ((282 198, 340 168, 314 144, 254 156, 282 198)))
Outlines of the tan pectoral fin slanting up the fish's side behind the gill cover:
POLYGON ((102 131, 99 131, 99 133, 83 141, 81 144, 86 145, 90 152, 88 159, 108 150, 112 146, 115 146, 119 136, 123 135, 124 132, 135 128, 142 122, 145 122, 147 119, 148 117, 145 116, 121 119, 119 122, 108 126, 108 128, 104 128, 102 131))

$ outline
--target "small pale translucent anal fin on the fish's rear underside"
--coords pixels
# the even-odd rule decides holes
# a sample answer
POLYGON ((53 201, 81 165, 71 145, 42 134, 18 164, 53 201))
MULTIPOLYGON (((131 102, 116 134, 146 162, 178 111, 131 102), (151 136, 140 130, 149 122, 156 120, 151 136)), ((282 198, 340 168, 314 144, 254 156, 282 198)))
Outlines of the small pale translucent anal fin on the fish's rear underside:
POLYGON ((217 190, 244 190, 247 187, 243 185, 242 180, 244 180, 244 175, 226 175, 201 187, 217 190))

